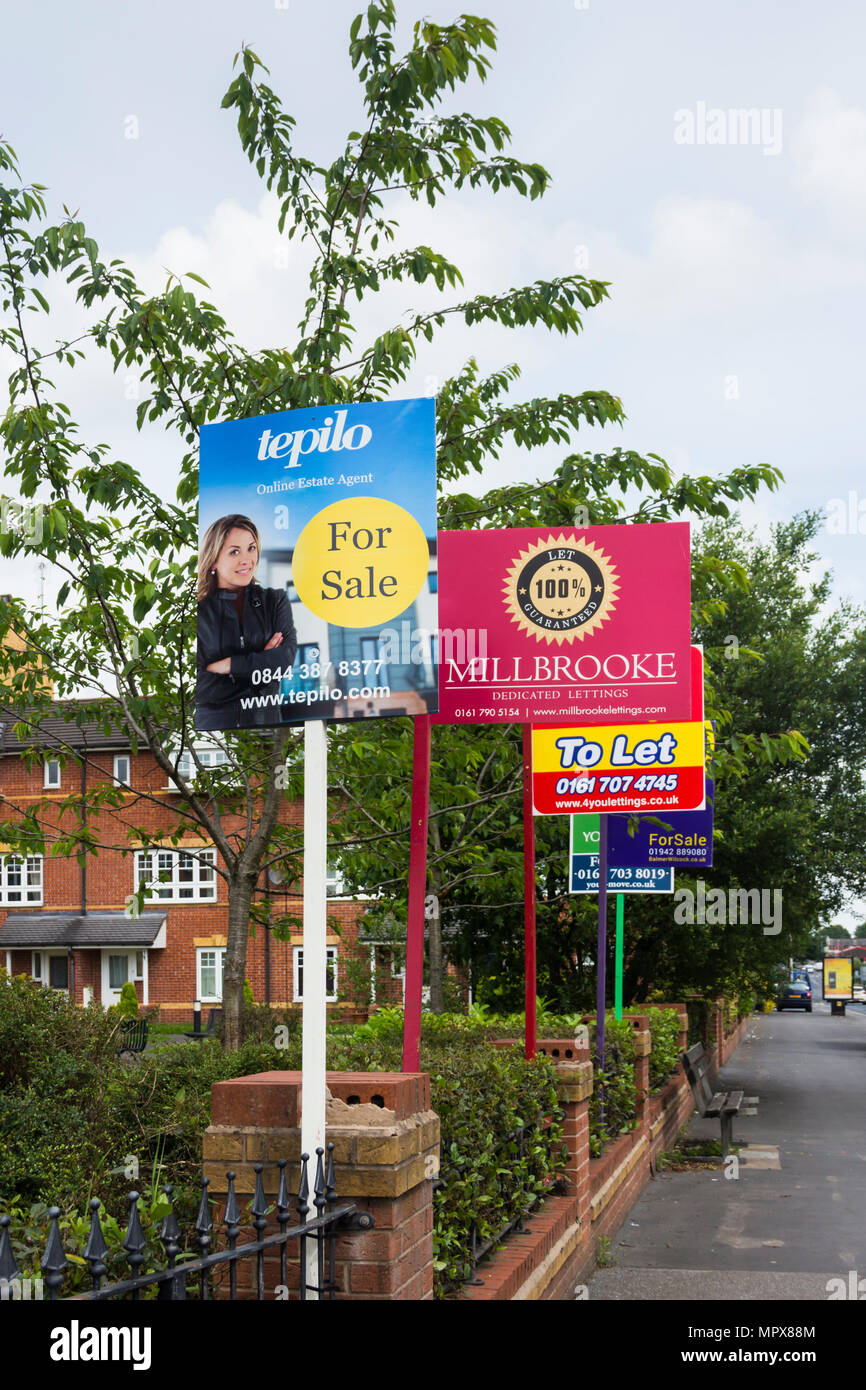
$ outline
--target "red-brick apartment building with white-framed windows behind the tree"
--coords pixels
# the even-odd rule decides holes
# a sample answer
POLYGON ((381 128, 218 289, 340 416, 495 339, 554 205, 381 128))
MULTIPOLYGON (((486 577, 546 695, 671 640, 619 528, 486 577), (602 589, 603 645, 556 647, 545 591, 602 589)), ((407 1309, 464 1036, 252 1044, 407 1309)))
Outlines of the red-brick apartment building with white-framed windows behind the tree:
MULTIPOLYGON (((97 844, 110 848, 88 855, 83 866, 74 856, 51 855, 50 845, 44 856, 3 853, 0 847, 0 966, 65 990, 78 1004, 96 1001, 104 1008, 115 1004, 122 984, 132 980, 140 1005, 157 1006, 163 1022, 189 1022, 195 999, 203 1009, 218 1005, 228 888, 215 872, 215 848, 209 849, 192 834, 164 849, 136 848, 128 841, 129 824, 145 824, 157 837, 164 831, 168 840, 177 826, 177 788, 167 785, 149 752, 133 755, 128 739, 106 734, 101 724, 76 726, 58 714, 43 724, 40 753, 42 760, 28 769, 13 721, 3 721, 0 819, 15 819, 38 802, 49 808, 50 816, 53 802, 92 791, 96 783, 117 787, 121 802, 89 812, 88 827, 97 844), (142 799, 143 792, 150 799, 142 799), (126 845, 124 853, 120 847, 126 845), (142 878, 150 884, 147 905, 135 917, 129 898, 142 878)), ((199 758, 215 764, 225 755, 203 744, 199 758)), ((192 773, 189 753, 179 770, 192 773)), ((281 816, 299 824, 303 808, 286 801, 281 816)), ((263 874, 260 892, 270 895, 274 916, 292 913, 300 919, 303 898, 297 884, 281 881, 271 870, 270 877, 263 874)), ((364 940, 363 902, 341 897, 336 876, 329 880, 329 1001, 345 999, 348 980, 341 981, 341 974, 348 976, 345 966, 354 956, 361 969, 375 972, 378 1002, 399 1002, 402 970, 386 963, 382 947, 377 959, 375 942, 364 940)), ((259 1002, 299 1005, 300 930, 291 940, 275 940, 260 929, 250 935, 246 976, 259 1002)))

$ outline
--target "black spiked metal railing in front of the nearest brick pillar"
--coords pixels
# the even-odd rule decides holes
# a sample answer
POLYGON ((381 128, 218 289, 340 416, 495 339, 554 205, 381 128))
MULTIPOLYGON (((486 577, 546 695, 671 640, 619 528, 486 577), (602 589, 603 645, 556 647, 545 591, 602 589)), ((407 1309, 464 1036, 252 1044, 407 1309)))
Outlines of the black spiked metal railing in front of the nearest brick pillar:
MULTIPOLYGON (((291 1241, 297 1241, 297 1298, 306 1300, 313 1294, 318 1300, 332 1300, 336 1291, 336 1236, 349 1230, 368 1230, 373 1226, 373 1216, 370 1212, 359 1212, 354 1202, 343 1202, 338 1205, 334 1173, 334 1144, 328 1144, 327 1163, 324 1162, 324 1148, 317 1148, 316 1155, 316 1176, 313 1182, 313 1209, 316 1215, 310 1215, 310 1183, 307 1172, 310 1156, 309 1154, 302 1154, 300 1183, 293 1204, 297 1212, 296 1222, 292 1222, 292 1205, 286 1184, 286 1159, 279 1159, 277 1163, 279 1169, 279 1190, 277 1193, 275 1207, 268 1205, 264 1194, 261 1180, 264 1165, 253 1165, 256 1173, 256 1191, 249 1208, 250 1220, 247 1225, 252 1225, 256 1232, 256 1240, 245 1241, 242 1244, 238 1244, 238 1237, 245 1222, 235 1193, 236 1175, 234 1172, 227 1172, 225 1212, 221 1223, 225 1234, 225 1248, 222 1250, 211 1248, 214 1245, 214 1223, 211 1219, 211 1198, 207 1191, 210 1180, 203 1177, 202 1200, 199 1202, 199 1213, 193 1226, 195 1236, 192 1237, 192 1243, 199 1248, 197 1258, 193 1257, 192 1251, 181 1250, 182 1232, 175 1209, 171 1204, 174 1190, 171 1186, 164 1187, 163 1191, 168 1200, 168 1212, 158 1230, 158 1240, 165 1252, 165 1266, 161 1269, 145 1270, 142 1268, 149 1262, 146 1257, 149 1243, 142 1227, 139 1194, 129 1193, 129 1219, 122 1248, 126 1252, 125 1264, 129 1266, 131 1275, 128 1279, 122 1279, 115 1283, 106 1283, 106 1276, 108 1273, 107 1258, 110 1258, 111 1252, 108 1250, 99 1216, 101 1202, 99 1197, 95 1197, 89 1204, 90 1232, 83 1250, 83 1262, 88 1265, 92 1287, 65 1295, 61 1290, 67 1280, 70 1261, 67 1259, 67 1254, 63 1248, 63 1237, 58 1225, 60 1208, 51 1207, 49 1211, 50 1229, 44 1254, 39 1262, 39 1268, 42 1270, 40 1280, 22 1279, 13 1252, 8 1229, 11 1218, 8 1215, 0 1216, 0 1300, 6 1301, 22 1297, 21 1286, 24 1284, 28 1286, 28 1293, 33 1284, 38 1284, 39 1291, 36 1297, 44 1297, 43 1290, 47 1290, 47 1298, 50 1300, 138 1300, 142 1297, 142 1293, 152 1289, 156 1289, 156 1297, 158 1300, 185 1300, 190 1294, 193 1298, 200 1300, 211 1300, 214 1297, 228 1297, 229 1300, 236 1300, 238 1265, 240 1261, 256 1262, 254 1290, 252 1287, 243 1290, 245 1295, 264 1300, 265 1255, 268 1254, 271 1258, 277 1255, 279 1257, 279 1279, 277 1283, 281 1289, 286 1290, 288 1297, 288 1261, 291 1241), (279 1230, 265 1236, 264 1233, 271 1209, 275 1209, 279 1230), (314 1261, 309 1259, 309 1241, 314 1241, 316 1244, 314 1261), (307 1276, 309 1265, 313 1265, 314 1268, 313 1282, 310 1282, 307 1276), (225 1273, 228 1275, 228 1282, 225 1282, 225 1273)), ((74 1257, 72 1262, 79 1268, 82 1265, 81 1257, 74 1257)), ((150 1264, 153 1264, 153 1259, 150 1264)), ((24 1294, 24 1297, 26 1297, 26 1294, 24 1294)))

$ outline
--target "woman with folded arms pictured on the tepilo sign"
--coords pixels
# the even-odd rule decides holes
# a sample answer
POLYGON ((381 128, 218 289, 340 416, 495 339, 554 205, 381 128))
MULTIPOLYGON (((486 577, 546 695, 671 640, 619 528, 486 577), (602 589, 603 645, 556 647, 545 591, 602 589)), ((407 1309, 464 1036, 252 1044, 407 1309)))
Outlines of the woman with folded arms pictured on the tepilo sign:
POLYGON ((254 523, 238 514, 214 521, 202 542, 196 728, 279 724, 274 696, 297 638, 285 591, 256 584, 260 553, 254 523))

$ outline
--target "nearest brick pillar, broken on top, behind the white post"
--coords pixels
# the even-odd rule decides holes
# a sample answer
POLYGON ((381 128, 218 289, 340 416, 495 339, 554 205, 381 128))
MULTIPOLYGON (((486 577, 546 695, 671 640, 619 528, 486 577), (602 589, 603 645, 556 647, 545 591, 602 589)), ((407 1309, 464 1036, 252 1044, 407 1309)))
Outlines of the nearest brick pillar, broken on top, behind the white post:
MULTIPOLYGON (((336 1240, 336 1297, 363 1300, 432 1298, 432 1180, 439 1172, 439 1119, 430 1108, 424 1073, 329 1072, 325 1126, 334 1147, 339 1201, 353 1201, 374 1218, 374 1229, 336 1240)), ((213 1197, 224 1198, 234 1169, 243 1207, 256 1188, 254 1163, 274 1202, 279 1170, 295 1219, 300 1173, 300 1072, 263 1072, 211 1087, 211 1125, 203 1137, 204 1176, 213 1197)), ((310 1204, 316 1163, 310 1165, 310 1204)), ((277 1229, 268 1219, 268 1233, 277 1229)), ((246 1236, 240 1237, 249 1238, 246 1236)), ((289 1287, 297 1287, 297 1243, 289 1254, 289 1287)), ((277 1297, 277 1261, 267 1262, 265 1298, 277 1297)), ((243 1261, 246 1286, 254 1261, 243 1261), (247 1268, 249 1266, 249 1272, 247 1268)), ((242 1269, 239 1268, 239 1284, 242 1269)))

